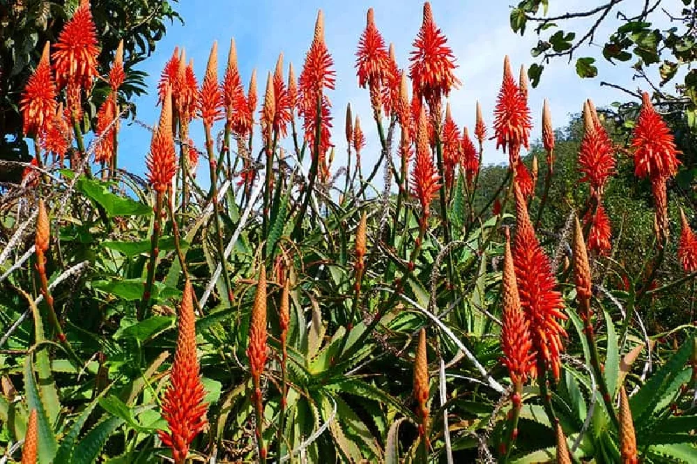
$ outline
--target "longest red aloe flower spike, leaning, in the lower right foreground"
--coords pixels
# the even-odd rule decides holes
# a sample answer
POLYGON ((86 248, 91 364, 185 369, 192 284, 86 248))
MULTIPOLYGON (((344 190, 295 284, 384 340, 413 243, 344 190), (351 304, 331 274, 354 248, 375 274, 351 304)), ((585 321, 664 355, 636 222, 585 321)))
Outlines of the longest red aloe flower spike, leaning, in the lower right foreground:
POLYGON ((567 336, 559 323, 567 318, 562 312, 564 302, 561 293, 555 290, 556 278, 549 258, 535 237, 526 201, 517 184, 514 192, 517 231, 513 257, 521 306, 530 325, 538 364, 551 369, 554 377, 559 378, 560 354, 564 350, 561 339, 567 336))

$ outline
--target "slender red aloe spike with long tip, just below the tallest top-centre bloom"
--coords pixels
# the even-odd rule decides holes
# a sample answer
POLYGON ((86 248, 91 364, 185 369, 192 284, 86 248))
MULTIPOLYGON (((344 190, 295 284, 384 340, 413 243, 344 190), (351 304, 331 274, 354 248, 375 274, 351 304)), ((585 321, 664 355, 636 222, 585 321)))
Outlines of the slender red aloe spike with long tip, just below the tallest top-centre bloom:
POLYGON ((431 147, 429 146, 429 130, 427 125, 426 111, 424 111, 422 107, 416 130, 416 158, 411 177, 414 194, 421 203, 424 219, 431 214, 431 200, 441 187, 441 185, 438 184, 440 177, 438 176, 438 171, 436 171, 431 147))

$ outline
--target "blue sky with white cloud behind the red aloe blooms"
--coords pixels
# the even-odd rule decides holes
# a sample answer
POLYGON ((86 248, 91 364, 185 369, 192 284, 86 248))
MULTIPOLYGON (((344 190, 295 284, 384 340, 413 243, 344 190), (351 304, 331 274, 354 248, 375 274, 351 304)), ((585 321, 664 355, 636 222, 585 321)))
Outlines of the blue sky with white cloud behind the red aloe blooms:
MULTIPOLYGON (((537 36, 528 33, 521 38, 509 26, 510 1, 493 0, 434 0, 436 23, 443 30, 452 47, 457 64, 457 76, 463 82, 458 90, 450 95, 450 105, 454 120, 461 127, 467 125, 470 132, 475 120, 475 102, 480 100, 487 127, 493 120, 493 107, 501 82, 503 56, 511 58, 514 72, 521 64, 530 65, 530 49, 537 43, 537 36)), ((565 0, 550 2, 549 15, 567 13, 569 10, 588 8, 584 0, 565 0), (563 6, 560 4, 563 3, 563 6)), ((595 4, 595 2, 592 2, 595 4)), ((643 2, 637 2, 643 3, 643 2)), ((208 0, 187 1, 175 4, 185 20, 170 26, 167 36, 158 42, 157 50, 144 62, 142 69, 148 72, 149 95, 137 98, 138 117, 141 121, 154 124, 158 120, 155 107, 156 91, 160 71, 169 59, 174 47, 184 47, 187 59, 194 59, 199 82, 203 77, 208 52, 213 40, 218 41, 219 77, 222 79, 230 38, 235 38, 238 52, 238 65, 245 82, 249 82, 253 68, 257 70, 258 91, 263 93, 266 75, 275 68, 279 52, 284 53, 284 66, 292 61, 299 74, 303 57, 312 40, 314 21, 319 8, 325 17, 325 40, 332 53, 337 71, 337 88, 329 92, 334 109, 334 137, 336 158, 333 170, 346 163, 346 142, 344 140, 344 114, 346 104, 351 102, 354 114, 359 114, 362 128, 366 134, 367 146, 363 154, 363 165, 372 167, 378 155, 377 132, 372 122, 367 90, 358 88, 355 77, 355 49, 362 29, 365 28, 365 15, 369 7, 375 10, 375 21, 386 42, 393 42, 400 68, 408 65, 412 42, 418 32, 422 19, 421 1, 379 0, 349 2, 318 0, 208 0)), ((583 28, 584 20, 575 26, 583 28)), ((660 25, 661 27, 664 24, 660 25)), ((570 26, 569 26, 570 27, 570 26)), ((616 24, 615 24, 616 27, 616 24)), ((584 29, 585 30, 585 29, 584 29)), ((610 33, 607 26, 597 32, 599 40, 610 33)), ((628 65, 613 66, 602 59, 602 46, 592 45, 579 56, 590 54, 597 57, 599 77, 579 79, 573 63, 556 61, 546 66, 542 82, 530 91, 530 108, 533 111, 533 139, 539 138, 541 127, 542 101, 549 99, 553 124, 562 127, 569 114, 581 110, 583 101, 592 98, 598 107, 615 100, 625 100, 617 90, 601 87, 601 80, 615 82, 636 89, 641 82, 631 82, 628 65)), ((645 84, 644 84, 645 86, 645 84)), ((263 100, 263 95, 259 95, 263 100)), ((150 144, 150 134, 138 125, 123 124, 119 142, 119 164, 136 173, 144 171, 144 158, 150 144)), ((192 138, 199 146, 203 127, 200 121, 192 124, 192 138)), ((257 128, 258 132, 258 128, 257 128)), ((490 132, 491 133, 491 132, 490 132)), ((499 163, 507 156, 494 150, 489 143, 484 148, 484 163, 499 163)), ((207 178, 207 167, 199 165, 199 178, 207 178)))

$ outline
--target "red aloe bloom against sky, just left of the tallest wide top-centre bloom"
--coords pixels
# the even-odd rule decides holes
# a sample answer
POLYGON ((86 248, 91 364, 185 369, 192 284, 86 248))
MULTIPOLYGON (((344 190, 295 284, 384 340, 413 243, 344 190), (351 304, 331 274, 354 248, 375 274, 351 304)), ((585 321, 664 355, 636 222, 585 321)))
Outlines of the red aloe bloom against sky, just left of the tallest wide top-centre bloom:
POLYGON ((383 36, 375 26, 373 8, 368 8, 365 29, 358 40, 355 56, 358 85, 365 88, 371 84, 379 89, 390 76, 390 55, 383 36))

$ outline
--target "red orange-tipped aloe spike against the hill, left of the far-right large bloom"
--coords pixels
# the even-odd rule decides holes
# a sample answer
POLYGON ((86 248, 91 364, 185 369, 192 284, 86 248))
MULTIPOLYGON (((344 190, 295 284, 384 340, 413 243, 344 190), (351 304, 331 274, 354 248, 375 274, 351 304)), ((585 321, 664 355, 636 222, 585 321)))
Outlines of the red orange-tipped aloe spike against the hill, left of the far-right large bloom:
POLYGON ((599 197, 608 177, 615 171, 614 148, 605 128, 593 121, 588 103, 584 105, 583 114, 588 116, 584 118, 585 134, 579 148, 579 171, 583 173, 581 182, 588 181, 592 194, 599 197))

